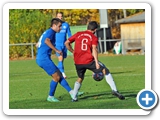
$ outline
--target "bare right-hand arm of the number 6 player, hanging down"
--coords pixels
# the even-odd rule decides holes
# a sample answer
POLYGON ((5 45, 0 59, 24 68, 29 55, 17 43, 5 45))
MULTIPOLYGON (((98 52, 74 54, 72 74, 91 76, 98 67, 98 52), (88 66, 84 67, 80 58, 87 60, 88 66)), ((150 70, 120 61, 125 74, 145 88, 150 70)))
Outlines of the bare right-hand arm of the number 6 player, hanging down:
POLYGON ((98 49, 96 45, 92 45, 92 55, 94 57, 95 63, 96 63, 96 68, 99 69, 99 63, 98 63, 98 49))

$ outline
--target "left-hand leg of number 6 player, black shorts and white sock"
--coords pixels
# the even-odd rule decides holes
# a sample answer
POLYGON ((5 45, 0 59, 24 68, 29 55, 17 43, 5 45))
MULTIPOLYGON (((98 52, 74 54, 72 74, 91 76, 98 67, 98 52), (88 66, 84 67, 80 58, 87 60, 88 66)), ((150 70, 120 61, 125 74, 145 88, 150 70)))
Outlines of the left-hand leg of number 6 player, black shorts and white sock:
POLYGON ((74 89, 73 89, 73 95, 72 95, 72 101, 78 101, 78 91, 81 88, 82 81, 84 79, 84 74, 86 72, 86 68, 83 67, 83 65, 75 65, 76 66, 76 72, 78 75, 77 81, 74 83, 74 89))

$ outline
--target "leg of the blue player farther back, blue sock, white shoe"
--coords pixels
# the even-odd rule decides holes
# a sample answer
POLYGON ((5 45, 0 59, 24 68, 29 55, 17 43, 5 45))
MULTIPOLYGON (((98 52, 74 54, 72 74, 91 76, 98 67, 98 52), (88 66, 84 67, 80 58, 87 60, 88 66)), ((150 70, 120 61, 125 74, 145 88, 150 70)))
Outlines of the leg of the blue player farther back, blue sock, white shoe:
MULTIPOLYGON (((56 46, 56 49, 62 51, 62 53, 65 54, 64 51, 63 51, 63 47, 62 46, 56 46)), ((57 67, 61 71, 63 77, 66 79, 67 77, 66 77, 66 75, 64 73, 64 65, 63 65, 64 55, 60 55, 59 53, 56 53, 56 56, 58 57, 58 65, 57 65, 57 67)))

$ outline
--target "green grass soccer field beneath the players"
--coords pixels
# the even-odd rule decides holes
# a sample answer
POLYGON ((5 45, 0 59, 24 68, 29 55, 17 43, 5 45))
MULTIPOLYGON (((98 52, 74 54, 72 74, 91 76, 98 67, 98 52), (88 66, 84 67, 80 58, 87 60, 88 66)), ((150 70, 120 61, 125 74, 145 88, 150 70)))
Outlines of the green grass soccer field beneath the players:
MULTIPOLYGON (((111 71, 117 89, 126 99, 119 100, 111 94, 105 79, 96 82, 87 71, 80 91, 84 94, 78 102, 71 102, 67 91, 58 85, 55 96, 59 103, 46 101, 51 77, 39 68, 35 60, 9 62, 9 109, 140 109, 137 93, 145 88, 145 56, 99 56, 111 71)), ((57 58, 53 58, 57 64, 57 58)), ((73 88, 77 75, 72 57, 64 62, 67 81, 73 88)))

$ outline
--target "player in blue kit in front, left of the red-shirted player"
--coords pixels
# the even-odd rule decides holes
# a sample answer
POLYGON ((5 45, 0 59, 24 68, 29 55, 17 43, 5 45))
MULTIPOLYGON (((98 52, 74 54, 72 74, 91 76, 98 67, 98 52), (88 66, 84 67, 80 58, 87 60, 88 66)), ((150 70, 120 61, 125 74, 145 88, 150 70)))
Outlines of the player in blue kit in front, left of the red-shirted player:
POLYGON ((59 100, 54 96, 58 83, 60 83, 70 93, 70 95, 72 93, 72 89, 68 85, 67 81, 64 79, 57 66, 51 60, 52 50, 62 55, 62 51, 55 48, 55 34, 61 30, 61 26, 62 21, 58 18, 53 18, 51 20, 51 27, 41 35, 37 44, 36 63, 49 76, 52 77, 49 95, 47 97, 47 101, 49 102, 59 102, 59 100))

